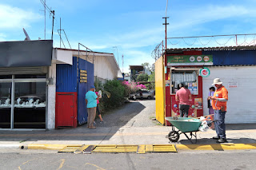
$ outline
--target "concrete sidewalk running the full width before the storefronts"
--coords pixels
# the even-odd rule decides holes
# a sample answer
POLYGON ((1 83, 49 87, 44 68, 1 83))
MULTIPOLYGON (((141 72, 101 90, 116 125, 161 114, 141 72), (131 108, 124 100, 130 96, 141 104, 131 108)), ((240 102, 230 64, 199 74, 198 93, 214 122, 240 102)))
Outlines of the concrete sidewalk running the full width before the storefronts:
MULTIPOLYGON (((211 139, 216 136, 212 129, 197 132, 197 144, 191 144, 184 134, 180 135, 177 143, 169 143, 166 135, 170 131, 171 127, 168 126, 88 129, 85 125, 53 131, 0 131, 0 149, 32 146, 38 149, 59 149, 76 144, 175 144, 178 149, 190 150, 216 150, 225 146, 229 146, 227 149, 256 149, 256 124, 226 125, 228 142, 225 144, 216 144, 216 140, 211 139)), ((190 136, 190 133, 187 135, 190 136)))

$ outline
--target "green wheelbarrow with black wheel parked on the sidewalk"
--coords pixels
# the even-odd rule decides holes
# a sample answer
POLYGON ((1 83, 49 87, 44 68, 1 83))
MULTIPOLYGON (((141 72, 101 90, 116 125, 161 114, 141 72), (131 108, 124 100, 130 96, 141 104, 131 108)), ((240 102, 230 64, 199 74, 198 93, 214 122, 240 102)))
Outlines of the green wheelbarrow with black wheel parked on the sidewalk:
MULTIPOLYGON (((206 117, 207 120, 208 117, 206 117)), ((171 142, 177 142, 179 139, 180 134, 184 134, 188 140, 192 144, 197 143, 197 132, 199 131, 198 128, 202 124, 198 118, 191 117, 166 117, 166 121, 169 121, 172 125, 172 130, 169 132, 168 138, 171 142), (175 128, 178 128, 178 131, 175 131, 175 128), (186 132, 190 133, 190 136, 186 134, 186 132), (195 138, 195 142, 193 143, 192 137, 195 138)))

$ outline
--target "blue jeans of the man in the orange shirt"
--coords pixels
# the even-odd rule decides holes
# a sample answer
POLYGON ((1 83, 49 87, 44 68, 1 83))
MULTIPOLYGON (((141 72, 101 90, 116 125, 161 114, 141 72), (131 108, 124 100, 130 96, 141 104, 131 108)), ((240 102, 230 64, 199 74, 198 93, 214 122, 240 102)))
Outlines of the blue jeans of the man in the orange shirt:
POLYGON ((220 110, 214 110, 214 126, 217 135, 220 138, 226 139, 226 125, 225 125, 226 112, 220 110))

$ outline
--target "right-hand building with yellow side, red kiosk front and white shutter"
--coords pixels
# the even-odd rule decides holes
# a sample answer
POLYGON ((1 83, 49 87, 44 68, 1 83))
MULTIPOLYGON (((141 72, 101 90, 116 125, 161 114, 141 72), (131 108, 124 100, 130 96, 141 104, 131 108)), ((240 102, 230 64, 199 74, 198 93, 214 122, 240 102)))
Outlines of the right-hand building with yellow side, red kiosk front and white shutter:
POLYGON ((229 91, 226 123, 256 122, 251 95, 255 91, 256 46, 166 49, 163 54, 155 62, 156 119, 162 125, 170 125, 165 117, 180 115, 175 94, 181 83, 192 94, 188 116, 208 115, 207 97, 216 77, 229 91))

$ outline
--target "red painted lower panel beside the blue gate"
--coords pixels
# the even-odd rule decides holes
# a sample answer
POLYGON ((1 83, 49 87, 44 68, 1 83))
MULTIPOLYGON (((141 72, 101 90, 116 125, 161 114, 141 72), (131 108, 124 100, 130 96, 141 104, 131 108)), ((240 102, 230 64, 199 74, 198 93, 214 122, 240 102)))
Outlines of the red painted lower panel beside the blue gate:
POLYGON ((57 93, 56 128, 76 127, 76 99, 74 93, 57 93))

